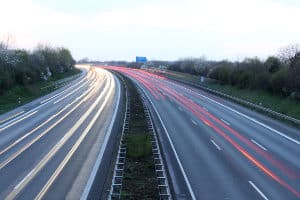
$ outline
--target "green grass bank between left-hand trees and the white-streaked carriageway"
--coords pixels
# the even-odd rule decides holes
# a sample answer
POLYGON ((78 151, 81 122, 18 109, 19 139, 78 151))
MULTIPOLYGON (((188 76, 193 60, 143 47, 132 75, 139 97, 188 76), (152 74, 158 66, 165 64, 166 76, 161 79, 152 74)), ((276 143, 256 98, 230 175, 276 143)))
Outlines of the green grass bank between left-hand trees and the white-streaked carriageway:
POLYGON ((78 74, 79 70, 59 74, 55 78, 32 85, 16 85, 0 95, 0 114, 24 105, 40 96, 58 89, 56 81, 78 74), (20 99, 20 103, 19 103, 20 99))

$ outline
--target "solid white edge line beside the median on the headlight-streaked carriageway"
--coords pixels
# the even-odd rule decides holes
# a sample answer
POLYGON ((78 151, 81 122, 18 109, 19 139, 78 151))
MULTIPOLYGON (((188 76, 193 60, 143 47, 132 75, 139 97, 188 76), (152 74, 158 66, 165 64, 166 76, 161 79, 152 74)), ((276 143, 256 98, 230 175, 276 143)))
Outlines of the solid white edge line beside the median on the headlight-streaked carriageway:
POLYGON ((114 77, 114 80, 117 82, 117 85, 118 85, 118 99, 117 99, 117 108, 118 108, 118 109, 115 109, 115 111, 114 111, 114 114, 113 114, 113 120, 112 120, 112 122, 111 122, 110 125, 109 125, 108 132, 107 132, 107 134, 105 135, 104 142, 103 142, 103 144, 102 144, 100 153, 99 153, 99 155, 98 155, 98 157, 97 157, 97 160, 96 160, 95 165, 94 165, 94 167, 93 167, 93 170, 92 170, 92 172, 91 172, 91 174, 90 174, 90 177, 89 177, 89 179, 88 179, 88 182, 87 182, 87 184, 86 184, 86 186, 85 186, 85 188, 84 188, 84 191, 83 191, 83 193, 82 193, 82 195, 81 195, 81 197, 80 197, 80 200, 86 200, 86 199, 88 198, 89 192, 90 192, 90 190, 91 190, 91 188, 92 188, 92 185, 93 185, 93 182, 94 182, 94 180, 95 180, 95 178, 96 178, 96 174, 97 174, 97 171, 98 171, 98 169, 99 169, 101 160, 102 160, 102 158, 103 158, 103 154, 104 154, 104 151, 105 151, 105 149, 106 149, 106 146, 107 146, 109 137, 110 137, 110 135, 111 135, 111 131, 112 131, 114 122, 115 122, 115 120, 116 120, 117 111, 119 110, 120 96, 121 96, 121 91, 120 91, 120 90, 121 90, 121 86, 120 86, 119 80, 116 79, 114 75, 113 75, 113 77, 114 77))

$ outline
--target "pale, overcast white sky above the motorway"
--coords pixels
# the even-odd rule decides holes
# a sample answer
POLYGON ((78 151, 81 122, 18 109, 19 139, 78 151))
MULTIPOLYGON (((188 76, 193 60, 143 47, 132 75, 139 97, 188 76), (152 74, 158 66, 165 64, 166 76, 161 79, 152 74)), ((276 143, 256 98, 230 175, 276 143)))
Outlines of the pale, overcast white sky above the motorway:
POLYGON ((299 0, 0 0, 0 40, 76 60, 242 60, 300 43, 299 0))

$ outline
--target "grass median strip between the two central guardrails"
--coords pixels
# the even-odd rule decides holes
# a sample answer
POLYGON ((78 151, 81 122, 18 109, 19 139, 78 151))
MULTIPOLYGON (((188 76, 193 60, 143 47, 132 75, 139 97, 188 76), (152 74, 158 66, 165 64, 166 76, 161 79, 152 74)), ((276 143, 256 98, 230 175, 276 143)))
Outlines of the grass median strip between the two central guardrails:
POLYGON ((125 136, 127 158, 121 199, 159 199, 151 136, 143 103, 131 80, 125 80, 130 93, 131 117, 129 133, 125 136))

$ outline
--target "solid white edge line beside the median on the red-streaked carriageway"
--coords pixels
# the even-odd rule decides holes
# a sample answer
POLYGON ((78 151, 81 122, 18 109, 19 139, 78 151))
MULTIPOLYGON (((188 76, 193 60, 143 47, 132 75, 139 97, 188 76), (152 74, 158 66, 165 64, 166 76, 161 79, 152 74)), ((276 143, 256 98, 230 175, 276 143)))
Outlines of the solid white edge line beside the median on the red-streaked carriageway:
POLYGON ((167 135, 167 138, 168 138, 169 142, 170 142, 170 145, 171 145, 171 147, 172 147, 172 150, 173 150, 173 152, 174 152, 174 155, 175 155, 175 158, 176 158, 176 160, 177 160, 177 162, 178 162, 178 165, 179 165, 179 167, 180 167, 180 170, 181 170, 181 172, 182 172, 182 174, 183 174, 184 180, 185 180, 185 182, 186 182, 186 184, 187 184, 187 187, 188 187, 188 190, 189 190, 189 192, 190 192, 190 195, 191 195, 191 197, 192 197, 193 200, 196 200, 194 191, 193 191, 193 189, 192 189, 192 187, 191 187, 191 184, 190 184, 190 182, 189 182, 189 180, 188 180, 188 178, 187 178, 187 175, 186 175, 186 173, 185 173, 185 171, 184 171, 184 169, 183 169, 183 166, 182 166, 182 164, 181 164, 181 161, 180 161, 180 159, 179 159, 179 157, 178 157, 178 154, 177 154, 177 152, 176 152, 176 150, 175 150, 174 144, 173 144, 173 142, 172 142, 172 140, 171 140, 171 138, 170 138, 169 132, 167 131, 167 128, 165 127, 165 125, 164 125, 164 123, 163 123, 163 121, 162 121, 162 119, 161 119, 161 117, 160 117, 160 115, 159 115, 159 113, 158 113, 156 107, 154 106, 152 100, 150 99, 150 97, 148 96, 148 94, 146 93, 146 91, 144 90, 144 88, 141 87, 141 86, 140 86, 140 88, 144 91, 144 94, 147 96, 147 98, 148 98, 148 100, 150 101, 150 103, 151 103, 151 105, 152 105, 152 107, 153 107, 153 109, 154 109, 154 111, 155 111, 155 113, 156 113, 156 115, 157 115, 159 121, 161 122, 161 125, 162 125, 162 127, 163 127, 163 129, 164 129, 164 131, 165 131, 165 133, 166 133, 166 135, 167 135))

